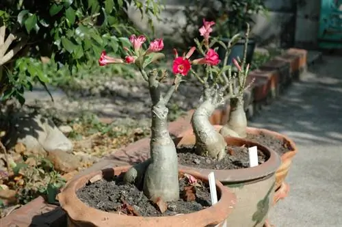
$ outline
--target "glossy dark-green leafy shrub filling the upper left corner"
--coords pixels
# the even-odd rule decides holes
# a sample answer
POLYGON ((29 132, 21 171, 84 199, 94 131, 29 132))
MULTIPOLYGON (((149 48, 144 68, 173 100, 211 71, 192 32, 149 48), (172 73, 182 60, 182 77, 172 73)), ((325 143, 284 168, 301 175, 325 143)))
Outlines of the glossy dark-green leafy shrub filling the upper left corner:
POLYGON ((133 29, 129 5, 144 12, 152 25, 159 16, 160 1, 138 0, 3 0, 0 2, 0 96, 14 96, 23 103, 23 92, 38 81, 49 83, 49 75, 34 59, 49 57, 55 70, 92 66, 106 49, 122 53, 133 29), (21 59, 21 57, 25 57, 21 59))

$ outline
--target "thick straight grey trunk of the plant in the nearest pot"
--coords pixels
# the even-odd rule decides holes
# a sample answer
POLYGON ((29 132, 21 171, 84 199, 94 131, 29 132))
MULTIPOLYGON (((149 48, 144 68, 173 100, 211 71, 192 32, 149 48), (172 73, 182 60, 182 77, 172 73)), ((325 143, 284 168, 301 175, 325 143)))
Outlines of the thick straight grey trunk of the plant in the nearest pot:
POLYGON ((166 104, 175 90, 170 88, 161 96, 159 81, 155 75, 148 78, 152 98, 152 124, 150 159, 133 166, 124 176, 127 183, 143 183, 144 194, 151 200, 161 198, 164 202, 179 199, 179 170, 176 146, 168 131, 168 108, 166 104))

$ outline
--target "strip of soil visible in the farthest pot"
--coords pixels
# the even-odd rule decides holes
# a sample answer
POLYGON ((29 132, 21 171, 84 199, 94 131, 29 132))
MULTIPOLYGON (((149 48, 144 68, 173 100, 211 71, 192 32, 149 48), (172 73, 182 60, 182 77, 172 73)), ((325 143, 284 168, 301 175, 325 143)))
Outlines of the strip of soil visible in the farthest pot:
POLYGON ((278 139, 272 135, 267 135, 265 133, 260 133, 259 135, 248 134, 245 139, 253 142, 257 142, 267 148, 270 148, 278 153, 278 155, 284 155, 286 152, 293 150, 291 146, 282 139, 278 139))

